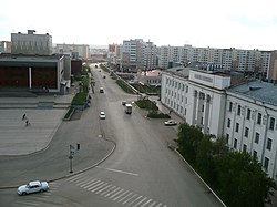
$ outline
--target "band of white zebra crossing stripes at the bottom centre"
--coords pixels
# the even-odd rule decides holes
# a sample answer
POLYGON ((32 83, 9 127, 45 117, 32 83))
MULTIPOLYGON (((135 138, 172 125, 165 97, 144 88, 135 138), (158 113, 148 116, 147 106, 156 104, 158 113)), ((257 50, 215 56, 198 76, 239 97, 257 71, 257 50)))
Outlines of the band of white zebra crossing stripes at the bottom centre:
POLYGON ((70 177, 68 182, 78 185, 96 195, 103 196, 113 201, 120 203, 130 207, 167 207, 166 205, 153 200, 143 195, 135 194, 129 189, 114 186, 101 179, 89 177, 82 174, 70 177))

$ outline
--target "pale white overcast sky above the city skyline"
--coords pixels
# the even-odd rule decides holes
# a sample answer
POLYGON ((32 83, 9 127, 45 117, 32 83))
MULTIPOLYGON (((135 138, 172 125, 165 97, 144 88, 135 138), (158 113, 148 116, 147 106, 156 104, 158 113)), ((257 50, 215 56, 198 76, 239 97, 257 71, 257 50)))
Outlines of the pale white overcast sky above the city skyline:
POLYGON ((50 33, 53 43, 277 50, 277 0, 0 0, 0 41, 50 33))

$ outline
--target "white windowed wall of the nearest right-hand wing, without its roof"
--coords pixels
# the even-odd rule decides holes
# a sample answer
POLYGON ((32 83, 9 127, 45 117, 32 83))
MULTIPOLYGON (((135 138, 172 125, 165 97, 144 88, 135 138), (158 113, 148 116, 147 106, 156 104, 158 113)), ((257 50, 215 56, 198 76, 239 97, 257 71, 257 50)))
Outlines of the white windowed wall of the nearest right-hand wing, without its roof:
POLYGON ((267 165, 267 159, 268 166, 265 170, 275 179, 277 178, 276 131, 276 106, 227 92, 224 135, 228 146, 257 156, 264 167, 267 165), (273 130, 269 130, 270 118, 275 120, 273 130))

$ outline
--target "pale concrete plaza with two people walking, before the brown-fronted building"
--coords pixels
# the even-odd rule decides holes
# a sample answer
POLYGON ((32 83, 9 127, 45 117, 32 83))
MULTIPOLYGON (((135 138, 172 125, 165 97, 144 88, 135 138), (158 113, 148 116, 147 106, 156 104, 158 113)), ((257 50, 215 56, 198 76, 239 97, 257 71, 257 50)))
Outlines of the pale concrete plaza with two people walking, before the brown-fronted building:
POLYGON ((48 147, 72 99, 73 94, 0 97, 0 155, 27 155, 48 147))

